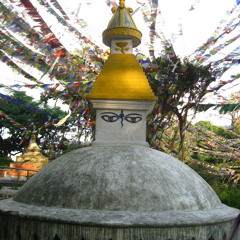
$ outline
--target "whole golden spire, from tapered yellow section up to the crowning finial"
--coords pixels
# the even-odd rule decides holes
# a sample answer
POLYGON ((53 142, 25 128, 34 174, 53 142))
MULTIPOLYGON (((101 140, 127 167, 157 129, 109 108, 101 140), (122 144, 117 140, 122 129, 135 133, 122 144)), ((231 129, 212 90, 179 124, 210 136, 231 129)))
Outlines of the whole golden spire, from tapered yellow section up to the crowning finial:
POLYGON ((111 49, 87 98, 155 101, 157 97, 142 67, 135 55, 129 54, 129 48, 132 50, 140 44, 142 36, 130 15, 132 9, 126 8, 125 1, 120 0, 118 8, 112 11, 114 16, 103 32, 103 42, 117 54, 112 54, 111 49))

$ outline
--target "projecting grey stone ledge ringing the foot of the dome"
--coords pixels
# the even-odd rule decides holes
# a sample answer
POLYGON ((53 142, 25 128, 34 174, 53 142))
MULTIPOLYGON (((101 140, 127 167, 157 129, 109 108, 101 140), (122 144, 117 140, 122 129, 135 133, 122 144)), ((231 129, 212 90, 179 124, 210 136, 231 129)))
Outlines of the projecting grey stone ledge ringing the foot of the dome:
POLYGON ((120 228, 194 227, 228 222, 233 224, 239 214, 240 211, 224 204, 213 209, 197 211, 130 212, 43 207, 19 203, 12 199, 0 203, 0 218, 8 215, 46 222, 120 228))

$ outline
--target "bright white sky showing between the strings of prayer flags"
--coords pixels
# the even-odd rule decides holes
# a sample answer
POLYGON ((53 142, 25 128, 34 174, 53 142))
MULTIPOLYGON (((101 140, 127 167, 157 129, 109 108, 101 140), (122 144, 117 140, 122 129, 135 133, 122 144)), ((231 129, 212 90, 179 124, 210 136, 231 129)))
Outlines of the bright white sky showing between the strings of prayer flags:
MULTIPOLYGON (((107 24, 112 16, 111 8, 107 6, 106 2, 114 2, 114 0, 58 0, 59 4, 63 7, 65 12, 71 16, 71 24, 75 24, 78 19, 83 19, 87 24, 87 28, 82 28, 83 34, 92 39, 103 50, 107 47, 102 43, 102 32, 106 29, 107 24)), ((34 4, 38 4, 37 1, 34 4)), ((50 2, 50 1, 49 1, 50 2)), ((116 3, 118 4, 118 0, 116 3)), ((148 55, 149 49, 149 28, 143 20, 142 6, 141 4, 148 5, 148 0, 126 0, 127 7, 133 8, 135 12, 133 19, 142 32, 142 43, 139 47, 141 52, 148 55), (141 4, 140 4, 141 3, 141 4)), ((154 1, 153 1, 154 2, 154 1)), ((155 0, 156 2, 156 0, 155 0)), ((212 36, 213 32, 219 25, 219 22, 226 18, 226 12, 236 6, 236 0, 159 0, 159 9, 161 14, 156 19, 156 29, 158 31, 164 31, 165 36, 171 40, 177 55, 181 57, 189 56, 196 48, 201 46, 206 40, 212 36), (164 19, 164 25, 162 24, 162 18, 164 19)), ((38 7, 41 14, 45 14, 41 6, 38 7)), ((239 12, 240 14, 240 12, 239 12)), ((69 51, 74 52, 76 48, 79 48, 79 42, 72 38, 70 33, 59 28, 59 23, 54 22, 54 19, 50 15, 46 15, 46 21, 51 26, 51 30, 61 39, 64 46, 69 51)), ((239 32, 239 28, 236 32, 239 32)), ((233 36, 235 32, 231 33, 233 36)), ((230 34, 228 37, 231 37, 230 34)), ((224 39, 223 39, 224 41, 224 39)), ((240 46, 240 38, 235 41, 234 44, 230 44, 228 47, 221 50, 219 54, 214 55, 209 61, 216 60, 226 56, 234 48, 240 46)), ((160 44, 156 39, 154 43, 155 55, 158 56, 161 51, 160 44)), ((12 73, 5 64, 0 62, 1 79, 0 83, 6 84, 21 84, 30 83, 22 76, 12 73)), ((39 76, 38 72, 32 72, 32 74, 39 76)), ((240 73, 240 65, 233 67, 230 72, 226 72, 220 80, 228 80, 233 74, 240 73)), ((44 83, 49 83, 49 79, 43 79, 44 83)), ((215 83, 217 84, 217 83, 215 83)), ((25 90, 25 89, 22 89, 25 90)), ((26 89, 28 90, 28 89, 26 89)), ((1 89, 2 91, 2 89, 1 89)), ((224 97, 228 97, 232 92, 240 91, 240 79, 234 81, 232 84, 227 84, 221 88, 219 93, 224 97)), ((32 89, 29 92, 30 95, 36 97, 39 96, 39 91, 32 89)), ((204 100, 205 103, 216 103, 219 101, 216 98, 216 94, 209 94, 204 100)), ((220 100, 221 101, 221 100, 220 100)), ((209 119, 210 113, 200 114, 198 118, 209 119), (204 116, 205 115, 205 116, 204 116), (200 116, 200 117, 199 117, 200 116)), ((221 116, 219 119, 220 125, 228 125, 229 119, 221 116), (221 120, 221 121, 220 121, 221 120), (220 123, 221 122, 221 123, 220 123)), ((214 121, 217 121, 217 117, 214 117, 214 121)))

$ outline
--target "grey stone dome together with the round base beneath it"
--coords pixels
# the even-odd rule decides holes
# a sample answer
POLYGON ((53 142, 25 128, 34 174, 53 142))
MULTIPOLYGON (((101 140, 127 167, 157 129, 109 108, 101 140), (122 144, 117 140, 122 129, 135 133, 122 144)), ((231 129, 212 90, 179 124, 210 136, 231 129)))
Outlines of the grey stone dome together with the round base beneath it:
POLYGON ((61 156, 0 201, 0 240, 239 240, 239 213, 178 159, 94 146, 61 156))

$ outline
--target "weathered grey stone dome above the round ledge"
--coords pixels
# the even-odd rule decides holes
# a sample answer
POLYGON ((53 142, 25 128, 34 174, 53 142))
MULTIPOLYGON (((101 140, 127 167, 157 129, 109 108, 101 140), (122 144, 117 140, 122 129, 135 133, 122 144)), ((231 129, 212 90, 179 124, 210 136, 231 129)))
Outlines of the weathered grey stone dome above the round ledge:
POLYGON ((179 160, 146 147, 72 151, 33 176, 15 201, 73 209, 191 211, 215 208, 215 192, 179 160))

